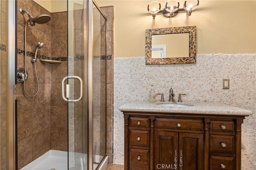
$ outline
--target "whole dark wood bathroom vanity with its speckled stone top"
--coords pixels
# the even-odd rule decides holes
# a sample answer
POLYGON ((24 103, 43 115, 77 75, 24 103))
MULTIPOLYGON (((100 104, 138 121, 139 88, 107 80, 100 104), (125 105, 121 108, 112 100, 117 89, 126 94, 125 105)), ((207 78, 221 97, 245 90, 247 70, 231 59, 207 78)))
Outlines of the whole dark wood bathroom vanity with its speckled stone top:
POLYGON ((242 123, 252 112, 221 103, 190 104, 122 105, 124 169, 240 170, 242 123))

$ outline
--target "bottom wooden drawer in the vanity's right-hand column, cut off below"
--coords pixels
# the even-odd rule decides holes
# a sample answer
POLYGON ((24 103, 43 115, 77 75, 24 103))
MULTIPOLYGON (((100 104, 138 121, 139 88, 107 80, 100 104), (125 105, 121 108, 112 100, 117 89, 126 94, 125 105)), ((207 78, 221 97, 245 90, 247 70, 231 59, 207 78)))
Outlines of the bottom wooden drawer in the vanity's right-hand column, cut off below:
POLYGON ((210 170, 234 170, 234 162, 234 157, 210 156, 210 170))

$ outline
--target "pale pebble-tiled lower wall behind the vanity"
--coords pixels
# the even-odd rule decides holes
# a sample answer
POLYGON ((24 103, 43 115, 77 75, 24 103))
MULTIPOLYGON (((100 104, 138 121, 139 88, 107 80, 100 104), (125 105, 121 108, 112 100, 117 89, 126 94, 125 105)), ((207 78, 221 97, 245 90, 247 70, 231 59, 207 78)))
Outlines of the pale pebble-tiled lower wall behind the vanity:
MULTIPOLYGON (((256 169, 256 54, 199 54, 196 64, 145 65, 145 57, 114 61, 114 163, 124 163, 124 117, 118 110, 129 100, 148 100, 150 85, 168 99, 172 87, 187 93, 183 101, 220 102, 248 109, 242 125, 242 170, 256 169), (222 79, 230 89, 222 89, 222 79)), ((160 100, 160 96, 157 97, 160 100)))

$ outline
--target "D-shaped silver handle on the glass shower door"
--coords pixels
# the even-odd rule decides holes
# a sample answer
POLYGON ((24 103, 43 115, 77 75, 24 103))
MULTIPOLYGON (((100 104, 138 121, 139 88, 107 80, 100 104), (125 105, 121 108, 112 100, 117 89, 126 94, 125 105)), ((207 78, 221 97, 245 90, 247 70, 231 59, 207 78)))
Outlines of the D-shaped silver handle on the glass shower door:
POLYGON ((82 99, 82 95, 83 95, 83 81, 80 77, 76 76, 76 75, 68 75, 66 77, 64 77, 62 79, 62 99, 66 102, 78 102, 82 99), (66 97, 64 95, 64 81, 66 79, 78 79, 80 81, 80 97, 78 99, 67 99, 69 98, 69 84, 66 85, 66 97))

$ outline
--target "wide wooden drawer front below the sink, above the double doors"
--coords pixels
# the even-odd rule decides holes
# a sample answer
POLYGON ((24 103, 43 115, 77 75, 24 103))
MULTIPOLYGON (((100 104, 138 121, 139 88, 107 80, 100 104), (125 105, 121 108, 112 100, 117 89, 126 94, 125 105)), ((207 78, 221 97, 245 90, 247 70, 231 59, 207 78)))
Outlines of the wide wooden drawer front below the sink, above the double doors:
POLYGON ((202 120, 156 118, 156 128, 203 130, 202 120))

